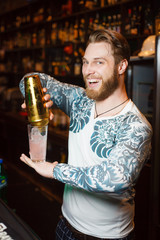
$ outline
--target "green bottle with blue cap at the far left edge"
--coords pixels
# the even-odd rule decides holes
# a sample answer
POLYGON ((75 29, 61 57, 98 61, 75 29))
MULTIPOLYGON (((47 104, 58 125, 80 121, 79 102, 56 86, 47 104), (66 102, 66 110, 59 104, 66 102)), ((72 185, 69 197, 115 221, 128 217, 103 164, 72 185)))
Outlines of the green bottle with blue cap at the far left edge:
POLYGON ((7 203, 7 175, 4 170, 2 158, 0 158, 0 198, 7 203))

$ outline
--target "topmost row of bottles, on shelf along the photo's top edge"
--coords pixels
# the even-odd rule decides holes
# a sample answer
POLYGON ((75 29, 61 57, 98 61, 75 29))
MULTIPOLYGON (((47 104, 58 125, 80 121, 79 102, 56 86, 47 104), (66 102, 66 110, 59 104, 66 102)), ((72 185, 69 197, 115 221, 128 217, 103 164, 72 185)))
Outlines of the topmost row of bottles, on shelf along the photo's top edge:
POLYGON ((81 12, 85 10, 93 10, 95 8, 104 8, 106 6, 115 5, 120 2, 125 2, 124 0, 68 0, 66 4, 53 4, 52 1, 45 3, 37 9, 32 10, 28 8, 24 9, 20 13, 15 13, 13 16, 6 15, 2 17, 0 32, 5 32, 13 28, 19 28, 29 24, 50 22, 54 21, 56 18, 70 16, 75 12, 81 12), (24 13, 23 13, 24 12, 24 13))

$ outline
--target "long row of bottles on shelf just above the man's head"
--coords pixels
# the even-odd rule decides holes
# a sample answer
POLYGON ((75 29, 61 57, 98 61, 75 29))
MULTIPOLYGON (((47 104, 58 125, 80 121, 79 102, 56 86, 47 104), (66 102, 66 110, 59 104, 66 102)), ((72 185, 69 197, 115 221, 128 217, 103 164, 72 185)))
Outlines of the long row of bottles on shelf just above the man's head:
POLYGON ((92 30, 105 28, 122 32, 124 35, 153 34, 153 18, 149 6, 146 6, 144 11, 144 21, 142 15, 142 6, 139 5, 128 8, 125 24, 122 23, 120 12, 115 11, 111 14, 96 13, 96 15, 90 16, 88 21, 81 17, 74 21, 53 22, 48 28, 33 28, 31 31, 15 32, 12 37, 10 34, 2 37, 1 46, 3 49, 12 50, 55 46, 68 42, 85 43, 92 30))

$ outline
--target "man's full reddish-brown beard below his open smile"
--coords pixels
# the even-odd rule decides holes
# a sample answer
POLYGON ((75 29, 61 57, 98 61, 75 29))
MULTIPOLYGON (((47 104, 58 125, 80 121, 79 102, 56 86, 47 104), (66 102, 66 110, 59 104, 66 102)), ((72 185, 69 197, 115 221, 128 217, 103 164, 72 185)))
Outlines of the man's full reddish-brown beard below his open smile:
POLYGON ((113 75, 108 78, 105 82, 102 81, 102 85, 99 90, 90 89, 86 84, 86 94, 89 98, 95 101, 102 101, 109 96, 117 89, 118 87, 118 71, 117 68, 114 69, 113 75))

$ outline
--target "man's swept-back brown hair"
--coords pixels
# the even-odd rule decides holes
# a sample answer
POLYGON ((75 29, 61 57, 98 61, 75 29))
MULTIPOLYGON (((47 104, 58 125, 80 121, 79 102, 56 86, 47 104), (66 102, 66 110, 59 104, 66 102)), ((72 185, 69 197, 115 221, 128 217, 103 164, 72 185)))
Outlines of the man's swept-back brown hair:
POLYGON ((89 36, 87 46, 89 43, 97 42, 107 42, 111 45, 115 64, 120 63, 123 59, 126 59, 129 63, 130 47, 125 37, 123 37, 120 33, 107 29, 95 30, 89 36))

